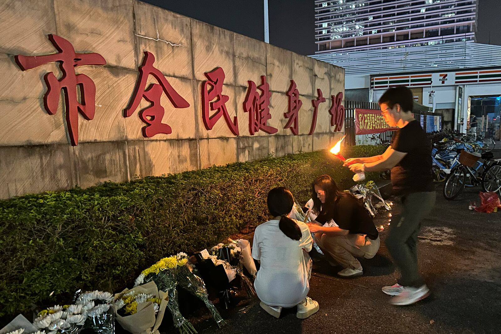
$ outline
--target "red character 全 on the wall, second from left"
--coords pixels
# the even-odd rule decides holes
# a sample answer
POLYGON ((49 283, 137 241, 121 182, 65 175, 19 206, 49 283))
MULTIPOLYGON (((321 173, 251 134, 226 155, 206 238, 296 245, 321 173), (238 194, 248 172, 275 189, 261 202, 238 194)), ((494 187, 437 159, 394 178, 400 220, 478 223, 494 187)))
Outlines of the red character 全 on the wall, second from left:
POLYGON ((172 129, 169 125, 162 123, 165 109, 160 104, 162 92, 174 106, 174 108, 188 108, 189 103, 184 100, 169 84, 165 76, 153 66, 155 56, 145 51, 143 63, 139 67, 139 77, 132 95, 129 106, 124 109, 124 117, 130 117, 136 111, 141 99, 144 97, 150 105, 139 112, 139 118, 147 125, 143 127, 143 137, 150 138, 159 133, 170 134, 172 129), (149 75, 157 80, 158 84, 150 84, 146 89, 149 75))

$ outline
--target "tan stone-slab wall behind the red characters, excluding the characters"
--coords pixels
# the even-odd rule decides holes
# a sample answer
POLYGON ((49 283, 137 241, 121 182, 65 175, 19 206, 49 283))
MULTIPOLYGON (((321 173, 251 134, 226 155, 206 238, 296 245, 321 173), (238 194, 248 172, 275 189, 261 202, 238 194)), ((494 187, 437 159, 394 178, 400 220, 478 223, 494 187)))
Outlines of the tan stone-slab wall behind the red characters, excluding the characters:
MULTIPOLYGON (((0 4, 0 198, 46 190, 89 187, 98 182, 128 181, 328 147, 341 133, 330 126, 331 95, 344 93, 344 70, 315 59, 241 36, 133 0, 5 0, 0 4), (93 120, 79 118, 79 141, 72 146, 67 131, 63 95, 55 115, 44 109, 44 75, 61 77, 58 63, 22 71, 15 55, 56 53, 48 39, 68 40, 77 53, 98 53, 105 66, 77 67, 96 86, 93 120), (138 78, 143 52, 190 104, 175 109, 163 94, 163 123, 169 135, 144 138, 139 110, 125 118, 138 78), (201 85, 204 73, 221 67, 228 112, 238 116, 239 136, 223 118, 212 130, 202 123, 201 85), (267 76, 272 91, 269 125, 250 136, 248 113, 243 112, 247 81, 260 85, 267 76), (298 136, 284 129, 290 81, 295 80, 303 102, 298 136), (320 88, 316 131, 308 135, 313 117, 311 100, 320 88)), ((152 76, 149 82, 154 83, 152 76)))

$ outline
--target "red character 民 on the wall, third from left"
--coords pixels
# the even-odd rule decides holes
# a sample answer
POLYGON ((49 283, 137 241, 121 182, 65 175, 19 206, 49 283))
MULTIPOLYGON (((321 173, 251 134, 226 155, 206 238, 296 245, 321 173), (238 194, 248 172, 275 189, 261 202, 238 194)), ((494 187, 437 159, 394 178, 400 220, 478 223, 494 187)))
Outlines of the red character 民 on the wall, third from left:
POLYGON ((223 69, 218 67, 211 72, 206 72, 205 77, 208 79, 208 81, 204 81, 202 84, 202 120, 205 125, 205 129, 212 130, 212 127, 216 124, 219 118, 224 116, 224 120, 226 121, 229 130, 232 134, 237 136, 238 120, 235 116, 233 117, 233 121, 231 121, 228 109, 226 109, 226 102, 228 102, 229 98, 227 95, 222 94, 225 78, 223 69), (210 116, 210 111, 217 112, 210 116))

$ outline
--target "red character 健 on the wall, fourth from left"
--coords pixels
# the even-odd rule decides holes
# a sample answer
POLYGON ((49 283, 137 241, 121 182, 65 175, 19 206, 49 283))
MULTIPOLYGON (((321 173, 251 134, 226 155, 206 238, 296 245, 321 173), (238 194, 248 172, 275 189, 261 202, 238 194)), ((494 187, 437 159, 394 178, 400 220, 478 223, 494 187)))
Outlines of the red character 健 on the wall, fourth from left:
POLYGON ((254 81, 248 81, 249 88, 243 102, 243 111, 249 113, 249 133, 254 135, 259 130, 274 134, 278 130, 268 125, 272 118, 270 114, 270 85, 266 82, 266 76, 261 76, 261 85, 256 87, 254 81), (261 95, 257 88, 261 90, 261 95))

